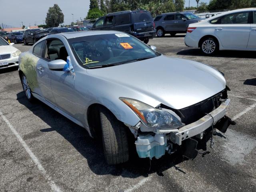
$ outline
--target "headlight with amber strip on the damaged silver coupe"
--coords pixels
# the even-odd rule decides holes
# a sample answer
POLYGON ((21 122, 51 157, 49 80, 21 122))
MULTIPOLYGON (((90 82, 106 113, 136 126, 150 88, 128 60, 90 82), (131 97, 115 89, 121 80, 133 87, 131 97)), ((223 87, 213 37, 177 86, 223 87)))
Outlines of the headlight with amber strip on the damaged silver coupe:
POLYGON ((157 109, 134 99, 120 97, 120 100, 129 106, 149 127, 177 129, 182 126, 182 122, 167 110, 157 109))

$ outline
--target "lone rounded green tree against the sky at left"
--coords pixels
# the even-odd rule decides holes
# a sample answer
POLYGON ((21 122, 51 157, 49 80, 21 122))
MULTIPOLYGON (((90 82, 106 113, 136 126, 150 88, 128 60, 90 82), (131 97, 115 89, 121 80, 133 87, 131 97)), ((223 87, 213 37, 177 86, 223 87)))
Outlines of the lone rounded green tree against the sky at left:
POLYGON ((48 27, 58 27, 59 24, 64 22, 64 14, 62 10, 58 6, 58 4, 54 4, 53 7, 48 9, 46 14, 45 23, 48 27))

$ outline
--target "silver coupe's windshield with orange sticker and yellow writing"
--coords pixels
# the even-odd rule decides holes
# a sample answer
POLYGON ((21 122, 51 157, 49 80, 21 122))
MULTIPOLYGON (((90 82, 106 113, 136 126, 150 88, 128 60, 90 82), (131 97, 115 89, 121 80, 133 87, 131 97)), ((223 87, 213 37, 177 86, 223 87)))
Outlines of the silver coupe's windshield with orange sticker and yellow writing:
POLYGON ((128 34, 104 34, 68 39, 78 63, 85 67, 123 64, 159 56, 140 40, 128 34))

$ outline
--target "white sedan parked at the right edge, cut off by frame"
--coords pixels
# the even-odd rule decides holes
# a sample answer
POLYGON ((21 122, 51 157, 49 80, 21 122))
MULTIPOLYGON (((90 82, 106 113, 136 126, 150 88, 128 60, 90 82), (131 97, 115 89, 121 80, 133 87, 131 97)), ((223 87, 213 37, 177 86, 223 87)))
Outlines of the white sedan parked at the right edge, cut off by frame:
POLYGON ((185 44, 207 55, 218 50, 256 51, 256 8, 228 11, 190 24, 185 44))

